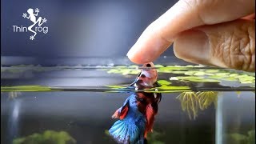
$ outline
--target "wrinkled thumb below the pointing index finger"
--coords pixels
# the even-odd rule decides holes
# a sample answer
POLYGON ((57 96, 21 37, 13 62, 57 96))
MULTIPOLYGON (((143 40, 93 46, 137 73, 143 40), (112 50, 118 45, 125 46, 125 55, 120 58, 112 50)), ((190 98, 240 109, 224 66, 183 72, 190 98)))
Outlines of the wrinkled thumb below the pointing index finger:
POLYGON ((188 62, 255 71, 255 22, 237 20, 186 30, 174 38, 174 54, 188 62))

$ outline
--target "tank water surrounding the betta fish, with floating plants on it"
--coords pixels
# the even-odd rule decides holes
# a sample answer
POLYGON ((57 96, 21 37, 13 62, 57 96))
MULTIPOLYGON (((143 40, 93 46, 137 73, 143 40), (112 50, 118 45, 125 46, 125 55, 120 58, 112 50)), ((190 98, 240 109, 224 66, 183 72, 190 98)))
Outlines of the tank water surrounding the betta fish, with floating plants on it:
MULTIPOLYGON (((254 143, 254 74, 185 66, 158 66, 162 101, 149 143, 254 143)), ((46 130, 70 143, 115 143, 106 130, 134 92, 126 85, 138 71, 115 65, 2 66, 1 143, 46 130)))

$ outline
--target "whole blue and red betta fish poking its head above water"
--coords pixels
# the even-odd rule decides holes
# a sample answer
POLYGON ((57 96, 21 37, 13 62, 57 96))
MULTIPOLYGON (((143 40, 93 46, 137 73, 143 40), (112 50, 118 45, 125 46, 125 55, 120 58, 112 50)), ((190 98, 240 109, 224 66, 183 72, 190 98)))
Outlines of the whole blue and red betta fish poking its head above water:
MULTIPOLYGON (((130 86, 138 90, 152 88, 158 86, 157 78, 154 64, 146 63, 130 86)), ((161 98, 160 93, 131 94, 112 116, 119 119, 109 130, 114 140, 125 144, 146 144, 146 135, 153 130, 154 116, 158 113, 161 98)))

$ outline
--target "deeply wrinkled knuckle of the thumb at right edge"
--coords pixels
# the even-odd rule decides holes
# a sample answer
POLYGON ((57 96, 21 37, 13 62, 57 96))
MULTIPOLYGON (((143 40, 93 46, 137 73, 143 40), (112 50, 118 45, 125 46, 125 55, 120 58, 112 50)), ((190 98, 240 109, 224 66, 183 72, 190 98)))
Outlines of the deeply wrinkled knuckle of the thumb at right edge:
POLYGON ((255 71, 255 28, 254 25, 240 25, 221 34, 221 40, 213 50, 214 58, 220 58, 226 67, 255 71))

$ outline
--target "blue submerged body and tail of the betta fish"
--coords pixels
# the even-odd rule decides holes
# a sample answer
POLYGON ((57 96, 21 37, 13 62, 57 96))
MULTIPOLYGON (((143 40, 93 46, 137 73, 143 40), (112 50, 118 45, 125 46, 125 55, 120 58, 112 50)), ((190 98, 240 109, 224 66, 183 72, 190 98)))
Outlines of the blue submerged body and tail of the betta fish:
POLYGON ((109 130, 116 142, 143 144, 146 118, 138 110, 136 94, 131 94, 123 106, 113 114, 112 118, 119 118, 109 130))

